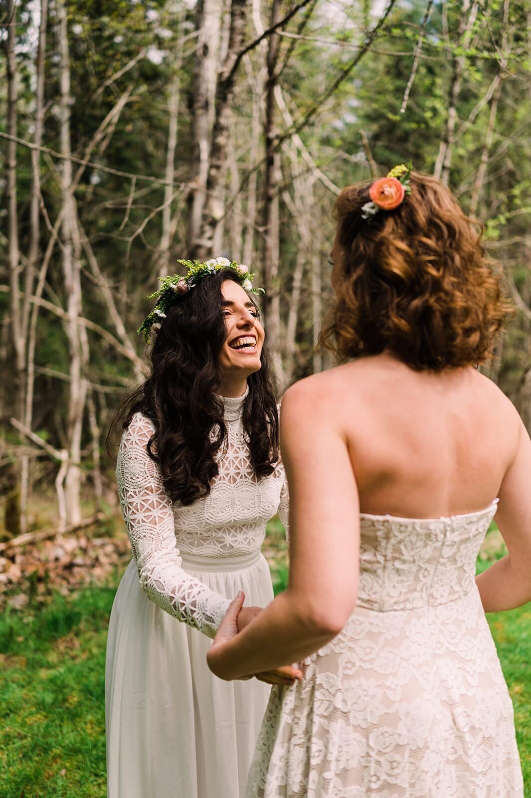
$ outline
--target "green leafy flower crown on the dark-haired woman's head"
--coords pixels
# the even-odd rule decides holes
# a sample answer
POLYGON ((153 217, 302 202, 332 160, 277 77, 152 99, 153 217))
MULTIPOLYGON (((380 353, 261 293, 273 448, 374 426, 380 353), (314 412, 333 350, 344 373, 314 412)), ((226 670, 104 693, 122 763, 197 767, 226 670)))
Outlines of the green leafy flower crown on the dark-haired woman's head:
POLYGON ((167 277, 159 277, 160 288, 153 294, 149 294, 148 299, 155 299, 155 307, 151 313, 144 318, 144 322, 140 325, 137 333, 144 334, 144 341, 148 343, 151 329, 159 330, 160 322, 166 318, 167 310, 173 305, 178 296, 187 294, 191 288, 197 285, 199 280, 209 275, 215 275, 217 271, 222 269, 230 269, 236 275, 236 282, 238 282, 243 290, 249 291, 253 294, 258 294, 263 288, 253 288, 254 275, 250 274, 248 267, 243 263, 236 263, 234 260, 228 258, 213 258, 202 263, 199 260, 178 260, 177 263, 182 263, 187 267, 186 275, 167 275, 167 277))

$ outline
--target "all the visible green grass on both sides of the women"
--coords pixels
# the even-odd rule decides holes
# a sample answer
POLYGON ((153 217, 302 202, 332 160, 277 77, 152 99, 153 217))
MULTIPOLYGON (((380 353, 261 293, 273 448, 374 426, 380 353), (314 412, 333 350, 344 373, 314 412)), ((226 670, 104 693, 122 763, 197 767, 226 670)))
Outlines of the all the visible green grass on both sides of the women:
MULTIPOLYGON (((278 550, 272 574, 280 591, 287 567, 277 531, 270 527, 266 545, 278 550)), ((478 570, 503 553, 497 535, 487 535, 478 570)), ((56 594, 45 606, 8 608, 0 619, 1 798, 105 798, 104 659, 114 591, 56 594)), ((489 622, 531 798, 531 605, 491 614, 489 622)))

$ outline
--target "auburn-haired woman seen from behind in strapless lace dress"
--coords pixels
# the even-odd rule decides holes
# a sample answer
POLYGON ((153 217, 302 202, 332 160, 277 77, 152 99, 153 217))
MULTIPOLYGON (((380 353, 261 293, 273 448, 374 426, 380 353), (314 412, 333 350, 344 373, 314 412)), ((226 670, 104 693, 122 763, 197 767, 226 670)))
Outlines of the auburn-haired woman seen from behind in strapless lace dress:
POLYGON ((246 798, 522 798, 513 706, 485 613, 531 600, 531 441, 474 366, 509 307, 476 225, 393 169, 336 203, 321 341, 342 365, 285 394, 285 593, 207 659, 273 687, 246 798), (475 578, 495 517, 508 555, 475 578))

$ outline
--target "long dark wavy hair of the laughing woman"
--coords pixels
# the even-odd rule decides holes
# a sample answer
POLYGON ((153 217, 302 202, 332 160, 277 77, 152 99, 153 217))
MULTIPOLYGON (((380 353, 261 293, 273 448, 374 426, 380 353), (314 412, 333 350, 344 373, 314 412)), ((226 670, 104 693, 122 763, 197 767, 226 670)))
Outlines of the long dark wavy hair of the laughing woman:
MULTIPOLYGON (((124 398, 107 436, 110 446, 116 430, 127 429, 134 413, 150 418, 155 432, 148 454, 159 465, 168 496, 182 504, 208 496, 218 475, 216 454, 227 443, 217 395, 223 382, 219 354, 226 340, 225 280, 238 282, 229 269, 218 271, 176 299, 156 334, 148 379, 124 398)), ((261 361, 262 368, 247 377, 242 415, 257 479, 271 474, 278 460, 276 391, 266 343, 261 361)))

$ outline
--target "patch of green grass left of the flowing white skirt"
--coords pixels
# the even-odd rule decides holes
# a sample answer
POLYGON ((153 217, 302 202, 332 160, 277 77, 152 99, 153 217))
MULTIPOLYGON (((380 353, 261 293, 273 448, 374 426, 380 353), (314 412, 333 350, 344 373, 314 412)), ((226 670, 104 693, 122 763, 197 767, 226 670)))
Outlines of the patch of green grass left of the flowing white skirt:
POLYGON ((104 662, 114 588, 0 621, 0 796, 104 798, 104 662))

